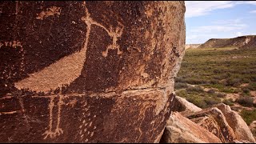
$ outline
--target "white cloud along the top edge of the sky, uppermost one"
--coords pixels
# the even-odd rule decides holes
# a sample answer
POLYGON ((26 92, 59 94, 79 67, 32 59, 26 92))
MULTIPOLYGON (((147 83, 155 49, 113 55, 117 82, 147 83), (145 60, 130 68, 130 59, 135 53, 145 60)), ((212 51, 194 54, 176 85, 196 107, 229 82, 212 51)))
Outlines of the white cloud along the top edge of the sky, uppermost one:
POLYGON ((256 5, 256 1, 185 1, 186 18, 210 14, 212 10, 226 9, 238 4, 256 5))

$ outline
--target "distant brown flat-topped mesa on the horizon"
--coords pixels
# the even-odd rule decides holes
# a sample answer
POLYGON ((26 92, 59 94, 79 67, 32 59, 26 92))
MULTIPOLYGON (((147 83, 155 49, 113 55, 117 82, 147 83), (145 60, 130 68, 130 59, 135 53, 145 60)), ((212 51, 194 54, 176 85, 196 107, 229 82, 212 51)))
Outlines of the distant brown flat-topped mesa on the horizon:
POLYGON ((245 35, 237 38, 211 38, 203 43, 198 48, 222 48, 222 47, 235 47, 235 48, 255 48, 256 35, 245 35))

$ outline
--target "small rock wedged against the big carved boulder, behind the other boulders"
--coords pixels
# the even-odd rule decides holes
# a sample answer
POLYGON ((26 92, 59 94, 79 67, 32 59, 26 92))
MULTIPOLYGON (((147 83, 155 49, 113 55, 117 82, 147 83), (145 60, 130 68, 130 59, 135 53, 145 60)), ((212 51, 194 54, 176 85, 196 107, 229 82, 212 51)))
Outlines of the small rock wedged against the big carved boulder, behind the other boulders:
POLYGON ((186 101, 185 98, 178 97, 177 95, 174 98, 174 106, 172 108, 173 111, 190 111, 190 112, 198 112, 202 109, 198 106, 195 106, 193 103, 186 101))

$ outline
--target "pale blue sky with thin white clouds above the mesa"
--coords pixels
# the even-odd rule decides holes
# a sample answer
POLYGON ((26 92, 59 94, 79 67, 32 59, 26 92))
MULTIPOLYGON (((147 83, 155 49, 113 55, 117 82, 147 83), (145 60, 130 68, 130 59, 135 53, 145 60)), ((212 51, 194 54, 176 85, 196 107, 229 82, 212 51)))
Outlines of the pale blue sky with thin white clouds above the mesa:
POLYGON ((256 1, 185 1, 186 43, 256 35, 256 1))

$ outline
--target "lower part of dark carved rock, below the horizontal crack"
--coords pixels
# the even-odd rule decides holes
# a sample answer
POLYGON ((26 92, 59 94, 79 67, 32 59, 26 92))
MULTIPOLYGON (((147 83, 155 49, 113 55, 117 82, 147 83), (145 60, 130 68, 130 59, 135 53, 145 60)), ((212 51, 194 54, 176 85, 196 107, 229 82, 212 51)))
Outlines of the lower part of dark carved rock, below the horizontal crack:
POLYGON ((164 93, 22 96, 15 113, 5 108, 17 98, 2 98, 1 142, 153 142, 170 113, 173 96, 164 93), (154 114, 162 95, 169 104, 154 114))

